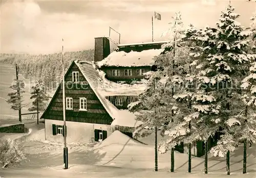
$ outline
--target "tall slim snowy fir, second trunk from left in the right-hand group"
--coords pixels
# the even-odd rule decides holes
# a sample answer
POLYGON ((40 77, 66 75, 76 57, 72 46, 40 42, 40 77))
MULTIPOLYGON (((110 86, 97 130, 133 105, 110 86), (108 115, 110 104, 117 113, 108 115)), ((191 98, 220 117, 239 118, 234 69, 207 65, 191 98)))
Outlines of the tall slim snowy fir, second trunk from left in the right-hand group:
MULTIPOLYGON (((164 127, 161 129, 162 135, 169 134, 168 130, 170 126, 174 126, 179 123, 179 120, 174 119, 174 115, 178 114, 178 107, 175 106, 174 94, 177 91, 182 90, 183 80, 186 71, 188 69, 187 63, 189 63, 188 49, 183 47, 184 27, 181 19, 181 13, 176 13, 173 17, 170 28, 165 32, 168 35, 169 42, 164 44, 164 54, 160 55, 157 64, 161 68, 160 75, 162 76, 163 91, 160 95, 163 98, 163 104, 161 106, 160 115, 165 118, 164 127), (166 55, 168 57, 166 57, 166 55)), ((169 142, 170 140, 160 144, 160 151, 162 153, 170 150, 171 168, 170 171, 174 171, 174 148, 181 142, 169 142), (164 145, 164 146, 163 146, 164 145)))

